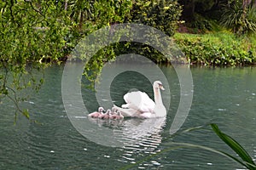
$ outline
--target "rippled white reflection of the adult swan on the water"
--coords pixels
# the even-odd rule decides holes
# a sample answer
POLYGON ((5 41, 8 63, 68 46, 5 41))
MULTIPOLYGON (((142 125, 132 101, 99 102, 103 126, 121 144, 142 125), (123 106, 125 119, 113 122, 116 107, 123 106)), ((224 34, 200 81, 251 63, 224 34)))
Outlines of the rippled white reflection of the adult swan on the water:
MULTIPOLYGON (((166 125, 166 117, 151 119, 125 118, 120 120, 90 118, 90 120, 100 126, 99 128, 107 127, 112 130, 113 139, 123 143, 123 147, 117 149, 123 152, 118 161, 135 163, 139 159, 137 158, 138 154, 144 156, 160 152, 161 132, 166 125)), ((158 167, 161 166, 157 161, 154 163, 158 167)), ((141 165, 140 167, 147 168, 148 166, 141 165)))

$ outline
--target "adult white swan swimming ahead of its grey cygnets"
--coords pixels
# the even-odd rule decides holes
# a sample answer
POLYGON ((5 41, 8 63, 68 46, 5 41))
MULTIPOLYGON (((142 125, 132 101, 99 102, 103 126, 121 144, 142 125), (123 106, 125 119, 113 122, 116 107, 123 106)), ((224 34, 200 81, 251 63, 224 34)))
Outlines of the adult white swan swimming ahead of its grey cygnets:
POLYGON ((165 90, 162 82, 155 81, 153 84, 154 101, 144 92, 131 92, 124 95, 126 104, 122 105, 122 108, 116 105, 113 105, 113 108, 121 111, 123 116, 140 118, 166 116, 166 107, 163 105, 160 89, 165 90))

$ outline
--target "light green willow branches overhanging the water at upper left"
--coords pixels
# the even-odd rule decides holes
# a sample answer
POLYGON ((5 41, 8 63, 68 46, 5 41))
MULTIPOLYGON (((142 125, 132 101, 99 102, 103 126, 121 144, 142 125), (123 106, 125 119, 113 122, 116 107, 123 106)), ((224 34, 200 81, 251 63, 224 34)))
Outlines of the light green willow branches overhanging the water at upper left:
POLYGON ((28 111, 18 105, 26 97, 20 98, 17 92, 29 87, 38 90, 44 82, 45 66, 67 59, 79 39, 91 31, 111 21, 122 22, 130 3, 1 1, 0 99, 8 97, 17 111, 29 118, 28 111), (41 78, 34 75, 35 71, 41 73, 41 78))

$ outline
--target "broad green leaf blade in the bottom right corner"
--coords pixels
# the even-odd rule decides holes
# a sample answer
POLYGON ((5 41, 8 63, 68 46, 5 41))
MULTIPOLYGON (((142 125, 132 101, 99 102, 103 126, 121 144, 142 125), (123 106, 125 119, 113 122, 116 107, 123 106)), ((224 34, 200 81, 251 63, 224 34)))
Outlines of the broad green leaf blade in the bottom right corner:
POLYGON ((222 133, 216 124, 212 123, 211 126, 213 131, 218 135, 218 137, 222 139, 224 143, 228 144, 232 150, 236 151, 236 154, 240 156, 241 159, 247 163, 247 166, 246 166, 247 168, 256 169, 256 164, 254 163, 252 157, 247 153, 246 150, 244 150, 241 144, 236 142, 236 140, 232 139, 229 135, 222 133))

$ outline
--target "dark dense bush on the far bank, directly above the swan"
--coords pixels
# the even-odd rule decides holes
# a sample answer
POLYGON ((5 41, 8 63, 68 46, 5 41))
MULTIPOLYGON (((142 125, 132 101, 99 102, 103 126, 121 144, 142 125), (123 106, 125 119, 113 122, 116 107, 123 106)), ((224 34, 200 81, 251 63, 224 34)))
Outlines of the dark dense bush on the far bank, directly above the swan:
MULTIPOLYGON (((182 12, 182 7, 177 3, 177 0, 141 0, 132 4, 131 13, 125 17, 126 22, 136 22, 139 24, 152 26, 166 35, 172 37, 177 30, 177 24, 182 12)), ((140 35, 138 35, 140 36, 140 35)), ((147 33, 148 37, 154 42, 159 37, 154 37, 151 32, 147 33)), ((163 57, 160 52, 147 44, 139 42, 124 42, 119 43, 118 48, 114 48, 115 54, 141 54, 153 60, 155 63, 170 62, 170 59, 163 57)))

